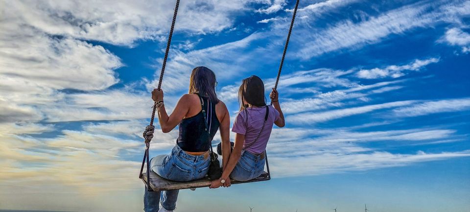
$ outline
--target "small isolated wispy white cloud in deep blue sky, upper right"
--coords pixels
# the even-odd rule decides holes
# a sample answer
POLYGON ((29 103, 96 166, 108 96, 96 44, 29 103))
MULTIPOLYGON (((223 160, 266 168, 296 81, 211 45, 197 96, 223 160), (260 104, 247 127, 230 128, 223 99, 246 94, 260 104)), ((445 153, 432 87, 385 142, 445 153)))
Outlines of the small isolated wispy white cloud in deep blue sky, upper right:
POLYGON ((380 69, 380 68, 374 68, 374 69, 369 69, 369 70, 360 70, 357 72, 356 76, 359 78, 365 78, 365 79, 376 79, 376 78, 385 78, 385 77, 392 77, 392 78, 398 78, 400 76, 405 75, 403 71, 419 71, 421 70, 424 66, 427 66, 431 63, 437 63, 439 62, 439 58, 430 58, 430 59, 425 59, 425 60, 419 60, 416 59, 414 62, 407 64, 407 65, 402 65, 402 66, 387 66, 386 68, 380 69))

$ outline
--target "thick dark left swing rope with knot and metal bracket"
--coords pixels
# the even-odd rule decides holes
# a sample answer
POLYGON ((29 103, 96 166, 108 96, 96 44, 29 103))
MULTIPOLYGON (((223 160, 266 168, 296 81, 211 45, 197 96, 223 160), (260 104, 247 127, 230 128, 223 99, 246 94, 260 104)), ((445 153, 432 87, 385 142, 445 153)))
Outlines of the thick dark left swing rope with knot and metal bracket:
MULTIPOLYGON (((175 12, 173 14, 173 20, 171 22, 170 34, 168 35, 168 42, 166 43, 165 56, 163 58, 162 71, 160 72, 160 79, 158 81, 158 87, 157 87, 158 90, 160 90, 160 88, 162 87, 163 74, 165 72, 165 66, 166 66, 166 59, 168 58, 168 52, 170 50, 171 37, 173 36, 173 29, 175 27, 176 15, 178 13, 179 6, 180 6, 180 0, 176 0, 175 12)), ((153 104, 153 111, 152 111, 152 117, 150 118, 150 124, 147 127, 145 127, 145 131, 143 132, 143 138, 145 139, 146 147, 145 147, 145 153, 143 155, 143 160, 142 160, 141 173, 139 175, 139 178, 142 178, 143 165, 146 162, 147 163, 147 189, 149 191, 151 191, 152 188, 150 188, 150 165, 149 165, 149 150, 148 149, 150 148, 150 141, 152 141, 153 133, 155 131, 155 126, 153 126, 153 121, 155 119, 156 111, 157 111, 157 102, 153 104)))

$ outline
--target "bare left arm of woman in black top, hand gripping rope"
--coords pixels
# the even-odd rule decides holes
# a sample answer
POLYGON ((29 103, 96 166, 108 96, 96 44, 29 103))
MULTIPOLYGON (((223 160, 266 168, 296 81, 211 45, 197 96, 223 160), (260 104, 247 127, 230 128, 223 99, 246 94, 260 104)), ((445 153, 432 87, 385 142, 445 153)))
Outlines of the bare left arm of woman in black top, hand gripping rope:
MULTIPOLYGON (((152 99, 156 102, 163 101, 163 91, 154 89, 152 92, 152 99)), ((160 122, 160 127, 162 132, 168 133, 173 130, 178 123, 185 118, 186 114, 189 111, 189 94, 183 95, 178 103, 176 104, 173 113, 168 116, 166 113, 165 106, 161 106, 158 109, 158 121, 160 122)))

